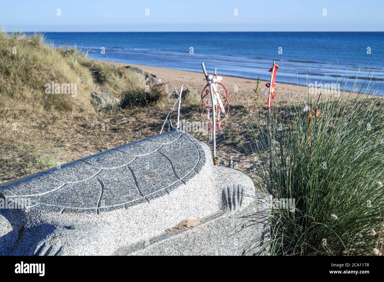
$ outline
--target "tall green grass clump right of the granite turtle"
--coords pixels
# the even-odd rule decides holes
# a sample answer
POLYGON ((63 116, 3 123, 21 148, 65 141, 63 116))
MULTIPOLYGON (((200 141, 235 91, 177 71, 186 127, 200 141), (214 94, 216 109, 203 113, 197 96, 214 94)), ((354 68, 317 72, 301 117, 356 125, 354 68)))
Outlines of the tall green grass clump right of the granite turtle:
POLYGON ((248 115, 252 177, 274 199, 265 242, 272 255, 383 252, 384 104, 367 94, 291 103, 271 122, 271 143, 248 115), (313 109, 309 127, 305 104, 313 109))

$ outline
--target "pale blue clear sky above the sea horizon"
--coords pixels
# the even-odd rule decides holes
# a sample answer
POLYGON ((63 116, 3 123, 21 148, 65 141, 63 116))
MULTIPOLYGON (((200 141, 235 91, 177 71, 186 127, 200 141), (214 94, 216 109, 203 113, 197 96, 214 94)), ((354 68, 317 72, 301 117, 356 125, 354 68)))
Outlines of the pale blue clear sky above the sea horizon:
POLYGON ((382 0, 2 0, 0 7, 6 31, 384 31, 382 0))

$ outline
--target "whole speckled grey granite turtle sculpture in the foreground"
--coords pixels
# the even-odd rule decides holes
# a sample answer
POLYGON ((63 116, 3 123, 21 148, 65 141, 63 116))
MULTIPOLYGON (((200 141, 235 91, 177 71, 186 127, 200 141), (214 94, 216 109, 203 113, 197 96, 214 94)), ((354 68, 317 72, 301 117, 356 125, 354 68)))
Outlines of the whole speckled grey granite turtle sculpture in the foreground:
MULTIPOLYGON (((207 145, 175 130, 1 184, 0 198, 13 207, 29 203, 0 209, 0 254, 111 255, 175 254, 168 244, 177 240, 191 245, 189 254, 201 254, 200 244, 220 245, 222 231, 214 239, 197 230, 236 229, 247 207, 264 197, 246 175, 214 166, 207 145), (188 219, 199 224, 182 227, 189 233, 181 237, 171 232, 188 219)), ((265 201, 247 213, 262 210, 268 210, 265 201)), ((267 216, 258 224, 264 238, 267 216)), ((228 244, 221 243, 224 252, 245 250, 228 244)), ((217 253, 206 247, 206 254, 217 253)))

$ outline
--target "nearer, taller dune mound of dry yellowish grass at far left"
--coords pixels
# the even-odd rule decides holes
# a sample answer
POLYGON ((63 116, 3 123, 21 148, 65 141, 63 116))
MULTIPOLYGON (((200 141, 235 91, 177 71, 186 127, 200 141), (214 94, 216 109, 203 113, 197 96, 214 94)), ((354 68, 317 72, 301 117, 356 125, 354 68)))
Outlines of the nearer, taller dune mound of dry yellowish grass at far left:
POLYGON ((42 35, 0 32, 0 108, 72 111, 87 105, 92 84, 85 67, 70 64, 42 35), (76 83, 79 95, 46 94, 45 84, 51 81, 76 83))

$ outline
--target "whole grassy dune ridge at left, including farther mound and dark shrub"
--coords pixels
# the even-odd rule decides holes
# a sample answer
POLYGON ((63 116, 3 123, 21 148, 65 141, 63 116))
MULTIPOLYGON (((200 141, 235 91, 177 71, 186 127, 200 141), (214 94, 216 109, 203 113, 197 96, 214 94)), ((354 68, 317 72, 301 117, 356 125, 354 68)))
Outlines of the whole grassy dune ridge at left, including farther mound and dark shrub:
POLYGON ((0 109, 41 112, 92 111, 90 92, 123 100, 123 107, 146 106, 164 96, 143 78, 76 48, 53 48, 43 34, 0 32, 0 109), (76 84, 77 95, 46 94, 46 84, 76 84))

